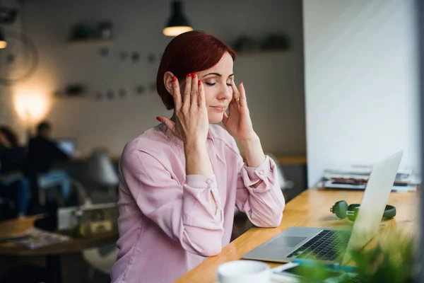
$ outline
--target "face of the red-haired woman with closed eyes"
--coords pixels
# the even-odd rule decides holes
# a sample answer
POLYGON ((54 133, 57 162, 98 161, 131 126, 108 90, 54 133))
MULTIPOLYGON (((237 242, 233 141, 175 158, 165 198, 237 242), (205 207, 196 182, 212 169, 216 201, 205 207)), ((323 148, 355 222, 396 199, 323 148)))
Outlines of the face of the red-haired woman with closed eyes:
POLYGON ((224 112, 232 99, 231 84, 234 81, 232 63, 231 55, 226 52, 218 64, 196 72, 197 78, 204 85, 209 123, 215 124, 223 120, 224 112))

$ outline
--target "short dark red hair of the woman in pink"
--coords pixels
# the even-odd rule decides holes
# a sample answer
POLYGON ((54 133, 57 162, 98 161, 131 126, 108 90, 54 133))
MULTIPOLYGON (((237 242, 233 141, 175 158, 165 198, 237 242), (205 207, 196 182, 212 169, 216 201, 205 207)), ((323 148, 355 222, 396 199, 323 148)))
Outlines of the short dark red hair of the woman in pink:
POLYGON ((213 35, 200 31, 189 31, 173 38, 163 52, 156 78, 156 89, 167 110, 175 108, 174 98, 163 83, 165 72, 170 71, 177 79, 187 74, 209 69, 220 61, 225 52, 235 60, 235 51, 213 35))

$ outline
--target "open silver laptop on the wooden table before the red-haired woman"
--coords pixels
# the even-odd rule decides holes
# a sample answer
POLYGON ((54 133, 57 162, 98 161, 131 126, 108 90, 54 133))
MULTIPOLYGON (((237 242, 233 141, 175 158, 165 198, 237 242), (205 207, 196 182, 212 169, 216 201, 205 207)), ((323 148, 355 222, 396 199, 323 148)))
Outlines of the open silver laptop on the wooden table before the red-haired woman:
POLYGON ((290 227, 242 258, 290 262, 313 256, 324 263, 347 262, 349 250, 363 248, 377 234, 403 154, 399 151, 372 166, 353 229, 290 227))

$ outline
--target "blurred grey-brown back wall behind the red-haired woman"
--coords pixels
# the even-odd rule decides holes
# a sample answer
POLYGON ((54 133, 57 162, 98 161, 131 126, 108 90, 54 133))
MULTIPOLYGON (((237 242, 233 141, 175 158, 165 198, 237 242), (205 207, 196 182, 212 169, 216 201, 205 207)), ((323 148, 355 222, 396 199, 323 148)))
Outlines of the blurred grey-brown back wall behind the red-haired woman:
MULTIPOLYGON (((88 154, 95 146, 106 146, 112 154, 120 154, 126 141, 157 124, 155 117, 172 115, 154 91, 141 97, 133 94, 138 83, 155 82, 159 62, 148 64, 146 57, 150 52, 160 56, 170 40, 162 35, 169 3, 165 0, 30 1, 28 33, 37 44, 41 62, 35 76, 13 86, 13 91, 49 94, 78 82, 93 91, 126 88, 130 95, 126 100, 52 100, 46 115, 54 123, 54 135, 76 137, 82 154, 88 154), (117 37, 107 45, 110 58, 99 56, 102 45, 66 42, 74 24, 82 21, 95 25, 105 19, 112 21, 117 37), (141 62, 120 61, 122 50, 139 51, 141 62)), ((196 29, 227 43, 242 34, 263 38, 269 33, 286 33, 290 37, 288 52, 240 56, 235 62, 235 74, 236 81, 245 82, 252 120, 264 149, 275 154, 305 153, 301 2, 190 0, 184 3, 185 13, 196 29)), ((11 100, 1 101, 0 113, 13 107, 11 100)), ((9 112, 4 119, 16 124, 18 117, 9 112)))

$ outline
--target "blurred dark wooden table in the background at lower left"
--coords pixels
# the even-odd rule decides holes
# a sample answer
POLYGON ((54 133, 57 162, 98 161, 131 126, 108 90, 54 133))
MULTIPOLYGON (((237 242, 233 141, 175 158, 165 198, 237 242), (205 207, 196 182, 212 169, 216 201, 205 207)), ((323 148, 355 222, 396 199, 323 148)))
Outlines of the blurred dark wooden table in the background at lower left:
MULTIPOLYGON (((22 219, 13 219, 0 222, 0 238, 20 236, 27 229, 34 226, 34 221, 43 215, 29 216, 22 219)), ((117 241, 117 232, 104 233, 89 238, 71 238, 71 240, 56 243, 42 248, 29 249, 16 246, 13 243, 0 242, 0 255, 45 255, 47 266, 47 283, 61 282, 60 255, 64 253, 81 252, 87 248, 102 246, 117 241)))

